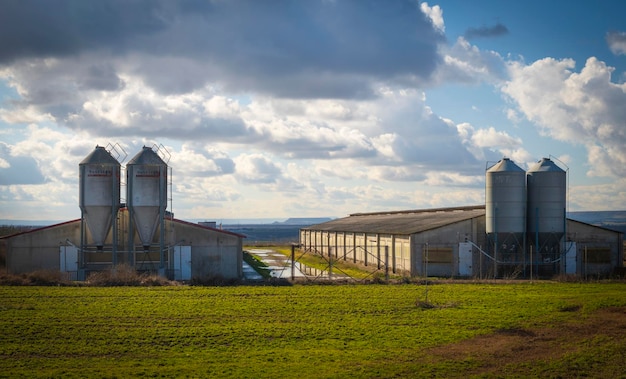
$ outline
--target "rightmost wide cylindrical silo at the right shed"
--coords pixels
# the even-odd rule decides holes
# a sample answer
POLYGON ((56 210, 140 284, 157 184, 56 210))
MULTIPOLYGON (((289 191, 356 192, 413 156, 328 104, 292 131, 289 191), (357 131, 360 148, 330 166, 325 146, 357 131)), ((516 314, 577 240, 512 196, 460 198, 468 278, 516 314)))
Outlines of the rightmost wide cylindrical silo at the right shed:
POLYGON ((543 158, 527 172, 528 238, 539 274, 556 274, 565 235, 566 172, 543 158))

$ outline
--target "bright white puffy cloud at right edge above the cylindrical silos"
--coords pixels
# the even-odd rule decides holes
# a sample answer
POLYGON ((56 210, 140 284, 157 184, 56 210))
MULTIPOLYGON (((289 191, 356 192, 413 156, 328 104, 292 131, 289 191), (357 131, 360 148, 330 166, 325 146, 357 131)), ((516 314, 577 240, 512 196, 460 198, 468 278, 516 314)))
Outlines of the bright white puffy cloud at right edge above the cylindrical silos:
POLYGON ((594 57, 574 67, 571 59, 512 62, 502 91, 544 134, 583 144, 590 174, 626 176, 626 84, 613 83, 614 69, 594 57))

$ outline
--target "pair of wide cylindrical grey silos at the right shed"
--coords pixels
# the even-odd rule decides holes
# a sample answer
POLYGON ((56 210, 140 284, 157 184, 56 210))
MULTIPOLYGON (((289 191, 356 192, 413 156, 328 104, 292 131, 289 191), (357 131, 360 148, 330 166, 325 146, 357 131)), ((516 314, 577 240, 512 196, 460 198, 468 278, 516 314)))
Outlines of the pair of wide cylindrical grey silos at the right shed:
POLYGON ((494 274, 498 267, 556 274, 566 227, 566 172, 549 158, 528 171, 503 158, 487 169, 485 182, 485 228, 494 274))

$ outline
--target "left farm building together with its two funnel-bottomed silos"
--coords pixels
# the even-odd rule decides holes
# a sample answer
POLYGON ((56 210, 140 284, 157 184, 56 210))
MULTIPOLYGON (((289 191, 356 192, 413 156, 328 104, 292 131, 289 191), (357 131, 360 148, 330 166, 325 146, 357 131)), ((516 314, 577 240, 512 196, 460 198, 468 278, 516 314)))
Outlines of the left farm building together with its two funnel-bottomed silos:
POLYGON ((158 148, 144 147, 127 163, 127 203, 112 151, 97 146, 79 164, 80 219, 0 238, 9 273, 60 270, 83 280, 123 263, 176 280, 242 276, 245 236, 166 210, 171 183, 158 148))

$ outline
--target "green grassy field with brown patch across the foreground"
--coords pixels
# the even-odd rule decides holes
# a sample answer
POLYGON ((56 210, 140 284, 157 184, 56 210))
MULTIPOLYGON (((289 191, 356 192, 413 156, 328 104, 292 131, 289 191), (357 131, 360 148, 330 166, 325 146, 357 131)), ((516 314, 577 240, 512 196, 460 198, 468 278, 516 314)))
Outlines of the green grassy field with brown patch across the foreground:
POLYGON ((0 287, 0 377, 624 377, 626 283, 0 287))

